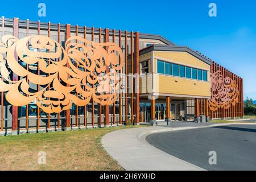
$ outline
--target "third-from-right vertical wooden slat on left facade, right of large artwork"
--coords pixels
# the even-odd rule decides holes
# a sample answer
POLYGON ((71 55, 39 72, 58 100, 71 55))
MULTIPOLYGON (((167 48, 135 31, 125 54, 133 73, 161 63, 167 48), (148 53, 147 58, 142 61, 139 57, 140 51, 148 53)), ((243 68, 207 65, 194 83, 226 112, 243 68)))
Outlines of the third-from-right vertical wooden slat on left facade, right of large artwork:
POLYGON ((127 50, 127 30, 125 31, 125 75, 126 75, 126 84, 125 84, 125 123, 128 121, 128 50, 127 50))

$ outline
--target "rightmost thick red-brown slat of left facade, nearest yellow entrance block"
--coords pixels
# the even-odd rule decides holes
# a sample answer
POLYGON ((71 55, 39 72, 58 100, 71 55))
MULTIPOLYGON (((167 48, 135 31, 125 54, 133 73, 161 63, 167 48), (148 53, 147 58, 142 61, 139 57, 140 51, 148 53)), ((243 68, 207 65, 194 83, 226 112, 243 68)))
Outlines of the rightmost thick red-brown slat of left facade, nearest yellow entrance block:
MULTIPOLYGON (((135 125, 139 125, 139 32, 135 32, 134 40, 134 62, 135 62, 135 125)), ((154 106, 155 107, 155 106, 154 106)))

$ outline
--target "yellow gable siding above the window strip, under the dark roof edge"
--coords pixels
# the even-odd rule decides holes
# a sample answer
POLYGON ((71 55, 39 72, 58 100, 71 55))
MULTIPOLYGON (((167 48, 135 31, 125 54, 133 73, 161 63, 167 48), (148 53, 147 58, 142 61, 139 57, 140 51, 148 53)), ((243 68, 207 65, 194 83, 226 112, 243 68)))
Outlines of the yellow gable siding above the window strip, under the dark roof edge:
MULTIPOLYGON (((183 64, 189 67, 200 68, 210 71, 210 65, 204 63, 203 61, 197 59, 196 57, 192 56, 187 52, 154 51, 154 55, 155 59, 162 58, 163 60, 170 61, 172 63, 183 64)), ((155 71, 156 70, 157 69, 155 69, 155 71)))

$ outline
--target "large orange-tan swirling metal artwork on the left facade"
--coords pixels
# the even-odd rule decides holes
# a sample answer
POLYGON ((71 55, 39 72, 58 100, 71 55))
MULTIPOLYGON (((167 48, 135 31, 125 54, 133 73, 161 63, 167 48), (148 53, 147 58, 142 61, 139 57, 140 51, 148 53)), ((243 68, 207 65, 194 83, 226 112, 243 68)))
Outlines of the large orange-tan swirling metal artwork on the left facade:
POLYGON ((19 40, 5 35, 0 53, 0 92, 6 92, 11 105, 24 106, 35 101, 51 114, 70 109, 72 102, 85 106, 93 99, 104 106, 117 99, 121 85, 117 72, 123 67, 123 53, 115 43, 72 36, 64 49, 47 36, 19 40), (32 89, 30 84, 40 89, 32 89))

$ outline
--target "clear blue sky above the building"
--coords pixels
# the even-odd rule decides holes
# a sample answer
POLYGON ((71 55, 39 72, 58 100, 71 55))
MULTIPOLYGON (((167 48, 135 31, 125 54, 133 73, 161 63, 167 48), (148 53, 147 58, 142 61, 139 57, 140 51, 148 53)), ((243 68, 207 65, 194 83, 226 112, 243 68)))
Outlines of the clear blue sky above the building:
POLYGON ((256 1, 2 1, 0 16, 159 34, 189 46, 244 78, 245 98, 256 100, 256 1), (46 3, 46 17, 38 4, 46 3), (217 17, 208 16, 210 2, 217 17))

